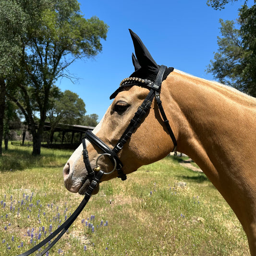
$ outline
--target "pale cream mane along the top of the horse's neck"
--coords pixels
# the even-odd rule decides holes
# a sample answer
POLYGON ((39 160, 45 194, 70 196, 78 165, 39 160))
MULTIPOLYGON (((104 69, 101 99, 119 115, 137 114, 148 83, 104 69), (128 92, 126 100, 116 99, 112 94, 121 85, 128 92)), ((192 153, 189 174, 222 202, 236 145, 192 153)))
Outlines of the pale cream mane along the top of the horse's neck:
POLYGON ((241 92, 241 91, 239 91, 239 90, 237 90, 237 89, 235 89, 235 88, 233 88, 229 85, 224 85, 224 84, 221 84, 221 83, 216 82, 216 81, 211 81, 211 80, 207 80, 207 79, 204 79, 204 78, 200 78, 200 77, 194 76, 194 75, 189 74, 189 73, 185 73, 185 72, 177 70, 177 69, 174 69, 173 72, 183 74, 183 75, 192 77, 195 80, 205 82, 208 85, 210 85, 212 88, 216 89, 219 92, 222 92, 223 94, 226 95, 226 97, 231 98, 232 100, 236 101, 237 103, 240 103, 242 105, 249 104, 250 107, 256 107, 256 98, 254 98, 252 96, 249 96, 249 95, 247 95, 247 94, 245 94, 245 93, 243 93, 243 92, 241 92))

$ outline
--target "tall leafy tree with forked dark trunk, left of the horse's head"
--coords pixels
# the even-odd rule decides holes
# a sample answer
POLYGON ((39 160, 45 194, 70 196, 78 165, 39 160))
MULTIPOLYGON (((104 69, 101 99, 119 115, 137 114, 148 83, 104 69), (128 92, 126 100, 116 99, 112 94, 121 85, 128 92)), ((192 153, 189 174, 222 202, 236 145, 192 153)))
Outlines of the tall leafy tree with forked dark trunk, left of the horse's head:
POLYGON ((108 26, 97 17, 85 19, 77 0, 16 2, 28 16, 28 25, 20 65, 7 80, 12 88, 8 96, 23 112, 33 135, 33 154, 39 155, 54 82, 70 77, 65 71, 73 61, 102 50, 100 39, 106 39, 108 26))

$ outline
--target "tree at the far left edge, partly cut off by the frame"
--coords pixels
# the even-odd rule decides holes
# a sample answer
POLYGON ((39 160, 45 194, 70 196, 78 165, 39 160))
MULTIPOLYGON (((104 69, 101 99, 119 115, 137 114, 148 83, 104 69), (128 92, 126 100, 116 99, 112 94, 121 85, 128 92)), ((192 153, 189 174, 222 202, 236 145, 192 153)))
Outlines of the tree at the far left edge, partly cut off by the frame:
POLYGON ((21 34, 25 32, 27 16, 15 0, 0 0, 0 156, 4 129, 6 79, 19 64, 22 54, 21 34))

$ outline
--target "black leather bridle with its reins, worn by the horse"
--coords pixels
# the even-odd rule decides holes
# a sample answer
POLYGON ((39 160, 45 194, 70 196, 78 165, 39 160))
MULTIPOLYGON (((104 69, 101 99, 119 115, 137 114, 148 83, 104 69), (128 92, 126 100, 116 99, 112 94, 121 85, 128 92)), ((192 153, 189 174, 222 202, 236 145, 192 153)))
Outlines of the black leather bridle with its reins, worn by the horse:
MULTIPOLYGON (((89 199, 92 195, 92 192, 97 187, 98 183, 100 183, 100 179, 102 178, 103 174, 110 174, 113 171, 117 171, 118 177, 121 178, 122 181, 126 180, 126 178, 127 178, 126 174, 124 174, 122 171, 123 164, 122 164, 121 160, 119 159, 119 157, 117 156, 117 154, 120 152, 120 150, 122 149, 123 145, 127 142, 127 140, 132 136, 136 127, 142 122, 142 120, 146 116, 146 113, 149 110, 154 98, 156 98, 156 101, 158 104, 158 109, 161 113, 163 122, 165 123, 168 133, 171 136, 171 140, 174 145, 172 152, 176 151, 177 141, 176 141, 176 138, 171 130, 171 126, 170 126, 169 121, 165 115, 165 112, 162 107, 162 102, 160 100, 161 84, 162 84, 163 75, 164 75, 164 72, 166 71, 166 69, 167 69, 166 66, 163 66, 163 65, 160 66, 156 81, 154 83, 151 82, 150 80, 135 78, 135 77, 129 77, 129 78, 125 78, 122 80, 120 87, 110 96, 110 99, 115 98, 116 95, 120 91, 122 91, 123 87, 133 86, 133 85, 139 85, 139 86, 148 88, 149 89, 148 95, 146 96, 146 98, 143 101, 143 103, 141 104, 141 106, 139 106, 138 110, 134 114, 134 117, 130 121, 128 127, 122 134, 122 136, 119 139, 119 141, 117 142, 116 146, 113 147, 113 149, 111 149, 107 144, 105 144, 100 138, 98 138, 91 131, 88 130, 85 133, 85 138, 82 140, 82 144, 84 147, 83 158, 84 158, 85 168, 88 173, 87 177, 90 180, 91 184, 85 193, 84 199, 82 200, 80 205, 76 208, 76 210, 73 212, 73 214, 57 230, 55 230, 46 239, 44 239, 42 242, 40 242, 39 244, 37 244, 36 246, 31 248, 27 252, 20 254, 18 256, 28 256, 28 255, 32 254, 33 252, 40 249, 42 246, 47 244, 51 239, 53 239, 54 237, 56 237, 58 235, 42 252, 38 253, 37 256, 43 256, 54 244, 56 244, 59 241, 59 239, 61 238, 61 236, 68 230, 68 228, 71 226, 71 224, 74 222, 74 220, 78 217, 78 215, 84 209, 85 205, 87 204, 87 202, 89 201, 89 199), (94 169, 92 169, 90 161, 89 161, 85 139, 87 139, 89 142, 95 144, 103 151, 103 153, 98 156, 98 158, 96 160, 96 168, 94 168, 94 169), (100 168, 98 166, 98 159, 102 156, 108 156, 110 158, 110 160, 114 166, 112 171, 104 172, 104 171, 100 170, 100 168)), ((173 71, 173 69, 171 71, 173 71)))

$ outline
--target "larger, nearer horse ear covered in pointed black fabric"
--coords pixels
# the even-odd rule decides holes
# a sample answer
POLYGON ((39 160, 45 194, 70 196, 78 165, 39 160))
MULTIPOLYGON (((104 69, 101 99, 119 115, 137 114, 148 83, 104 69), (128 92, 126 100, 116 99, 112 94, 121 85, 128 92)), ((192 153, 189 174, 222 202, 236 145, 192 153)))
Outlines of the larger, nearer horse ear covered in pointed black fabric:
POLYGON ((158 64, 156 63, 156 61, 154 61, 141 39, 131 29, 129 29, 129 31, 133 39, 135 54, 139 65, 142 68, 146 68, 149 70, 158 70, 158 64))

